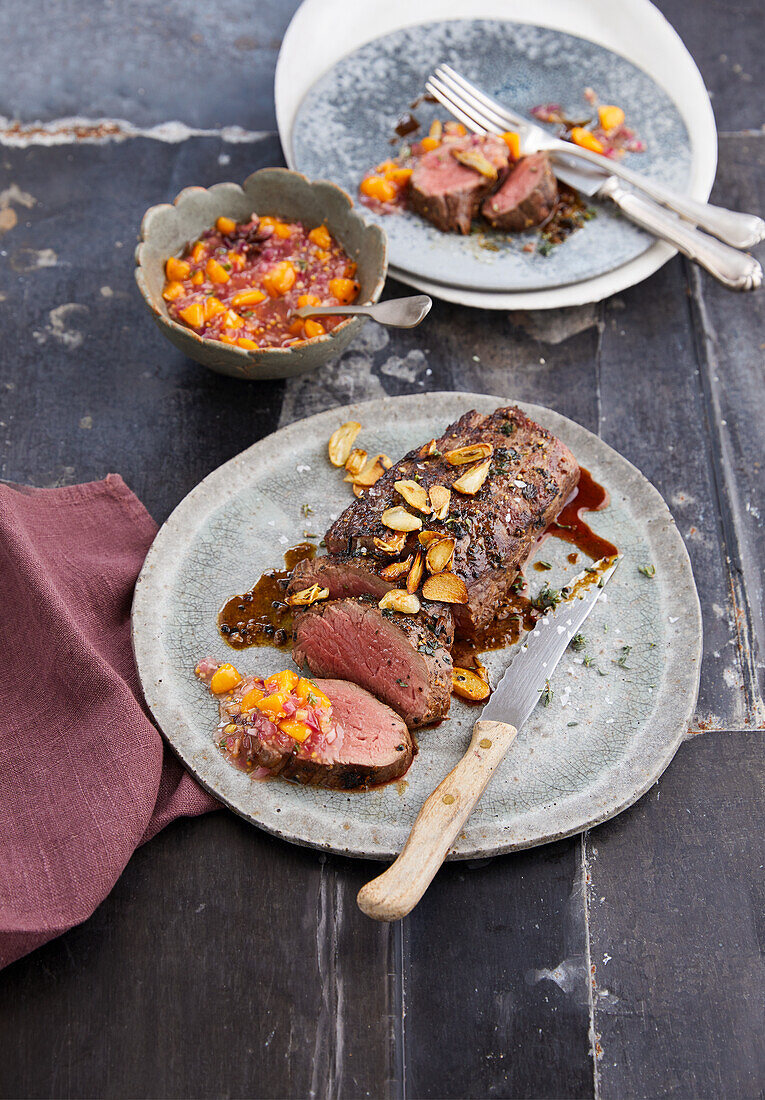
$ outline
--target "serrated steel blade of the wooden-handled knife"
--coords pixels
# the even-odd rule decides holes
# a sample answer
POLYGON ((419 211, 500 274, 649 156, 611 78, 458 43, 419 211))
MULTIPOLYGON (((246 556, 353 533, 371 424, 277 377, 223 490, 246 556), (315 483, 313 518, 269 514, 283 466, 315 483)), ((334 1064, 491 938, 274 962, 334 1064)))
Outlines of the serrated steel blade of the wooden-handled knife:
POLYGON ((505 722, 520 729, 539 702, 571 638, 590 614, 619 565, 619 558, 602 559, 579 573, 529 630, 513 661, 494 689, 481 722, 505 722))

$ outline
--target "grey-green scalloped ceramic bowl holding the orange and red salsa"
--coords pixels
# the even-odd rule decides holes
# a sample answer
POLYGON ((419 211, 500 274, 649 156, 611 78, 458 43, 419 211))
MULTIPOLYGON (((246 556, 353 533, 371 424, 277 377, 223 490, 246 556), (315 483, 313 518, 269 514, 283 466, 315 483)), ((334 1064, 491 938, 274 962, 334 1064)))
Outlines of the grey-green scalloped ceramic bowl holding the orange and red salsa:
POLYGON ((367 224, 353 210, 349 196, 335 184, 312 183, 299 172, 287 168, 261 168, 248 176, 241 187, 238 184, 186 187, 173 204, 150 207, 143 216, 135 250, 135 282, 162 332, 197 363, 234 378, 288 378, 307 374, 345 351, 367 318, 351 317, 326 336, 292 348, 247 351, 208 340, 174 321, 162 297, 168 256, 181 255, 221 215, 243 221, 252 213, 302 221, 308 229, 326 224, 358 264, 359 302, 379 299, 387 271, 385 234, 376 226, 367 224))

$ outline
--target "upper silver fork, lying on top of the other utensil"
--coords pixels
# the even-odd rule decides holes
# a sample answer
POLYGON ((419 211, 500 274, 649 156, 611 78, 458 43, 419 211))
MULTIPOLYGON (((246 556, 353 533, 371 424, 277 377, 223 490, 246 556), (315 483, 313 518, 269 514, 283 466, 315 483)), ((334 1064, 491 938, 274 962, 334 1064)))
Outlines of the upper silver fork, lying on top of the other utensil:
POLYGON ((757 218, 756 215, 739 213, 736 210, 725 210, 723 207, 715 207, 709 202, 698 202, 696 199, 679 195, 677 191, 633 172, 623 164, 605 160, 600 153, 593 153, 591 150, 581 148, 571 142, 553 138, 542 127, 487 96, 474 84, 460 76, 450 65, 440 65, 436 69, 435 77, 446 85, 447 89, 468 109, 474 107, 481 110, 494 125, 500 127, 500 132, 517 131, 524 153, 536 153, 544 150, 546 153, 550 153, 556 161, 559 156, 564 156, 567 160, 587 161, 597 165, 610 176, 619 176, 620 179, 651 196, 652 199, 666 206, 674 213, 686 218, 701 229, 706 229, 707 232, 735 249, 751 249, 758 241, 765 239, 765 221, 757 218))

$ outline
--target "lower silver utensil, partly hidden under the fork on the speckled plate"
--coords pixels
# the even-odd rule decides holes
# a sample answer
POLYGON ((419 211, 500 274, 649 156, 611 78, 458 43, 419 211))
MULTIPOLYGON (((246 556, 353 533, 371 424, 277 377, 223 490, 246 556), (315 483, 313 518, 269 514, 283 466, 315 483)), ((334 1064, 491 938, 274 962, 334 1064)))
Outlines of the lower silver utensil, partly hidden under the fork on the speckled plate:
MULTIPOLYGON (((506 129, 496 122, 489 111, 469 103, 437 77, 431 77, 426 88, 473 133, 502 133, 506 129)), ((522 148, 524 153, 531 152, 523 142, 522 148)), ((708 237, 646 196, 623 187, 615 175, 609 174, 611 162, 606 162, 605 169, 600 162, 602 157, 597 158, 593 167, 589 161, 577 162, 573 157, 555 158, 555 174, 565 184, 584 195, 610 199, 641 229, 671 244, 731 290, 755 290, 761 286, 763 270, 754 256, 739 252, 713 237, 708 237)))

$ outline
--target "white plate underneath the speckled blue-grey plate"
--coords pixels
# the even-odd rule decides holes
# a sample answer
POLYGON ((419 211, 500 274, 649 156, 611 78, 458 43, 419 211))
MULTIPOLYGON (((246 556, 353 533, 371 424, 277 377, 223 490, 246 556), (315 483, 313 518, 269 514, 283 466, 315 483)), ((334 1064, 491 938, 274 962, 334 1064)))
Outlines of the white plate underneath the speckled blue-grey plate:
MULTIPOLYGON (((457 0, 305 0, 282 43, 275 78, 275 103, 282 146, 291 167, 292 129, 306 92, 336 62, 360 45, 393 30, 438 20, 463 19, 457 0)), ((704 200, 717 169, 714 117, 701 75, 677 33, 648 0, 477 0, 474 19, 506 19, 554 28, 591 40, 644 69, 676 103, 691 140, 688 194, 704 200)), ((586 75, 582 78, 586 80, 586 75)), ((627 105, 629 107, 629 105, 627 105)), ((390 274, 434 297, 484 309, 551 309, 599 301, 642 282, 675 250, 656 242, 615 271, 567 286, 528 292, 466 290, 415 278, 396 267, 390 274)))

